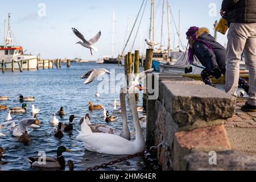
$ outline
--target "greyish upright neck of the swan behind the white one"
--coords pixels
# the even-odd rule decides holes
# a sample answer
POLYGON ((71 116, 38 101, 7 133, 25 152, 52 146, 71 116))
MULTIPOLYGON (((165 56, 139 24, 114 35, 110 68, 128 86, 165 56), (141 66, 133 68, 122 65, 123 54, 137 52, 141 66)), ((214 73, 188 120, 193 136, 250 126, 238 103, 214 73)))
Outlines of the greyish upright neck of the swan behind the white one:
POLYGON ((127 114, 126 114, 126 94, 120 93, 120 102, 121 102, 121 111, 122 111, 122 133, 121 137, 130 140, 131 134, 127 123, 127 114))

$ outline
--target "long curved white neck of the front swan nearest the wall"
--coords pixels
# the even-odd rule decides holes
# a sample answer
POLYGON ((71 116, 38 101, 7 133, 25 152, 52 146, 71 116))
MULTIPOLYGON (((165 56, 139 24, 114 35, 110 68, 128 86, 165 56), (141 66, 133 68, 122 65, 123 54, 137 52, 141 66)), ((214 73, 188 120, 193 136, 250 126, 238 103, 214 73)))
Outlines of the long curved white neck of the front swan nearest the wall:
POLYGON ((133 121, 134 121, 134 127, 135 127, 135 132, 136 132, 136 140, 135 141, 138 142, 139 144, 144 144, 145 141, 144 141, 144 137, 142 134, 141 125, 139 123, 139 114, 137 111, 135 94, 130 93, 129 99, 130 99, 131 111, 133 113, 133 121))

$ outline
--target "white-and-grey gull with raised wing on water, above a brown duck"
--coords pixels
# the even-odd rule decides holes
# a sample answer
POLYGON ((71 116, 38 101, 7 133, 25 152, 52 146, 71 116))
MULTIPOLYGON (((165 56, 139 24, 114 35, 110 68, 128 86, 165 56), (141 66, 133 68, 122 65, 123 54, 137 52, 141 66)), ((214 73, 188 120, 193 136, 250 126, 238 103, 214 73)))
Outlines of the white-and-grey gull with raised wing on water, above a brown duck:
MULTIPOLYGON (((18 123, 18 127, 15 127, 13 130, 13 136, 14 137, 20 137, 27 131, 27 127, 30 125, 33 125, 36 123, 36 118, 30 118, 30 119, 22 119, 18 123)), ((31 130, 32 131, 32 130, 31 130)), ((28 132, 28 134, 31 133, 31 131, 28 132)))

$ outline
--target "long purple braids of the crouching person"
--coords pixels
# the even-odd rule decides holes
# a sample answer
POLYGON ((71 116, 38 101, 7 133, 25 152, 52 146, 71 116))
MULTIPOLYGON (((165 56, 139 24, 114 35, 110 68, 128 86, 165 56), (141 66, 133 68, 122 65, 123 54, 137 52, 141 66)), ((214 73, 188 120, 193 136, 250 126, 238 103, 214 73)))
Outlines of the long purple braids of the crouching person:
MULTIPOLYGON (((199 36, 199 38, 196 37, 197 31, 199 31, 199 27, 190 27, 186 33, 187 39, 191 38, 191 40, 189 40, 189 41, 191 41, 193 43, 200 42, 200 43, 204 44, 205 46, 207 46, 210 49, 210 51, 213 52, 213 46, 211 46, 210 44, 205 42, 205 40, 200 39, 200 36, 199 36)), ((191 48, 191 47, 193 47, 193 43, 191 46, 189 46, 189 49, 188 49, 187 64, 194 63, 195 52, 194 52, 193 48, 191 48)))

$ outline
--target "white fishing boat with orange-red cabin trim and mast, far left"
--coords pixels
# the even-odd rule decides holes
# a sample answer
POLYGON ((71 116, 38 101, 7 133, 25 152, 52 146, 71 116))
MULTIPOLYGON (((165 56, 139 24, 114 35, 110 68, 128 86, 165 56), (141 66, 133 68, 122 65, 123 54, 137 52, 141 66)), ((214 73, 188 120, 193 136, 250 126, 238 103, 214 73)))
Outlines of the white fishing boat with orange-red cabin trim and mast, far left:
MULTIPOLYGON (((6 24, 6 21, 5 21, 6 24)), ((6 30, 6 28, 5 28, 6 30)), ((23 47, 13 46, 13 35, 10 26, 10 13, 8 14, 8 30, 5 34, 4 45, 0 46, 0 60, 4 60, 5 64, 3 65, 5 69, 36 69, 37 60, 39 59, 39 53, 36 55, 24 54, 23 47)), ((2 69, 2 64, 0 64, 2 69)))

